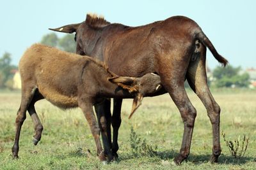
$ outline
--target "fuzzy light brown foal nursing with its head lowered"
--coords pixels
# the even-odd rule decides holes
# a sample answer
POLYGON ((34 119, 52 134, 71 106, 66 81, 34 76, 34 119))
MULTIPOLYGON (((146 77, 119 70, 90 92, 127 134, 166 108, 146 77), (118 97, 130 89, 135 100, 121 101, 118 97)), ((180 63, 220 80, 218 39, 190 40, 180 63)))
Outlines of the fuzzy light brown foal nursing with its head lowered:
MULTIPOLYGON (((97 155, 105 162, 106 157, 101 154, 99 136, 101 131, 102 138, 107 138, 106 120, 104 117, 99 117, 101 124, 98 124, 93 113, 93 105, 104 97, 135 97, 132 105, 134 112, 140 106, 136 100, 154 94, 161 83, 160 77, 156 74, 148 73, 141 78, 117 76, 91 57, 62 52, 39 44, 26 50, 20 59, 19 70, 22 98, 16 118, 13 157, 18 157, 20 129, 26 119, 27 110, 35 124, 33 143, 36 145, 40 141, 43 126, 34 105, 40 99, 47 99, 63 109, 81 108, 95 139, 97 155)), ((104 147, 108 147, 108 144, 104 147)), ((110 148, 106 149, 110 150, 110 148)))

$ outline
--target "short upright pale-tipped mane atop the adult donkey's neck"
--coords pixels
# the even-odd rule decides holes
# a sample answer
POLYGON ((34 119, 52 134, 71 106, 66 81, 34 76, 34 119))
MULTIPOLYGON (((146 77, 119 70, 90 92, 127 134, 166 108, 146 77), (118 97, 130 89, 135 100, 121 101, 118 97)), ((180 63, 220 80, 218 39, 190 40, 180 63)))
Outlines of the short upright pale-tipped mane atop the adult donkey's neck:
POLYGON ((110 24, 110 22, 106 21, 102 15, 97 15, 92 13, 88 13, 86 15, 85 23, 95 28, 104 27, 110 24))

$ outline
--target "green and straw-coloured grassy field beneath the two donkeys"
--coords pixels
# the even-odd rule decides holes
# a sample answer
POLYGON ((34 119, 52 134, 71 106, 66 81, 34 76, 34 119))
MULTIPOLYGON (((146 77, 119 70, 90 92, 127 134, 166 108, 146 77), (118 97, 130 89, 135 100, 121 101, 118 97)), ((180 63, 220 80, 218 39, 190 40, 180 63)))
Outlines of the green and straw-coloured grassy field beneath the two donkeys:
MULTIPOLYGON (((41 141, 37 146, 33 145, 33 122, 27 114, 20 134, 20 159, 13 160, 11 148, 20 93, 0 92, 0 169, 255 169, 256 91, 213 90, 212 94, 221 106, 221 131, 225 132, 226 139, 234 141, 240 138, 241 141, 244 134, 250 136, 241 159, 232 157, 221 136, 223 151, 218 164, 208 162, 212 129, 206 110, 193 92, 188 94, 197 110, 188 160, 181 166, 172 165, 173 157, 179 153, 183 123, 179 111, 166 94, 145 98, 131 120, 128 117, 132 101, 124 101, 118 151, 120 161, 104 166, 96 157, 94 139, 81 110, 63 111, 47 101, 36 103, 44 125, 41 141), (145 139, 146 145, 156 150, 154 154, 147 150, 132 150, 131 128, 141 141, 145 139), (86 153, 87 149, 92 155, 86 153)), ((137 146, 141 148, 141 142, 137 146)))

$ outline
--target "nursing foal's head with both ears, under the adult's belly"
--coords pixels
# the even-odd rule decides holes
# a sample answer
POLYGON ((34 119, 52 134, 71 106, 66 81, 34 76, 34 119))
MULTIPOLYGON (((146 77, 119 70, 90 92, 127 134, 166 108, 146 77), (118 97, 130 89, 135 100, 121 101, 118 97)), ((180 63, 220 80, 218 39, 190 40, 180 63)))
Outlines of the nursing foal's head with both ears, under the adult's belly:
POLYGON ((132 117, 134 111, 141 105, 144 96, 154 94, 161 89, 160 76, 154 73, 147 73, 139 78, 115 76, 108 80, 112 83, 117 83, 120 87, 129 90, 129 92, 135 95, 129 118, 132 117))

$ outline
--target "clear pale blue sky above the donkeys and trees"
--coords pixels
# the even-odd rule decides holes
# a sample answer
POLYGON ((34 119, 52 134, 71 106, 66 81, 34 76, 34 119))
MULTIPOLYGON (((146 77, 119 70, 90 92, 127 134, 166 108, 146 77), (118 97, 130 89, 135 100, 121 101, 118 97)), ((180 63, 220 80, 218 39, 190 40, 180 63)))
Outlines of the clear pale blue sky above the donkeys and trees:
MULTIPOLYGON (((233 66, 256 67, 256 1, 60 1, 4 0, 0 6, 0 56, 12 54, 13 64, 49 27, 82 22, 86 13, 99 13, 109 22, 143 25, 184 15, 195 20, 218 52, 233 66)), ((63 36, 58 33, 58 36, 63 36)), ((210 52, 211 68, 218 66, 210 52)))

